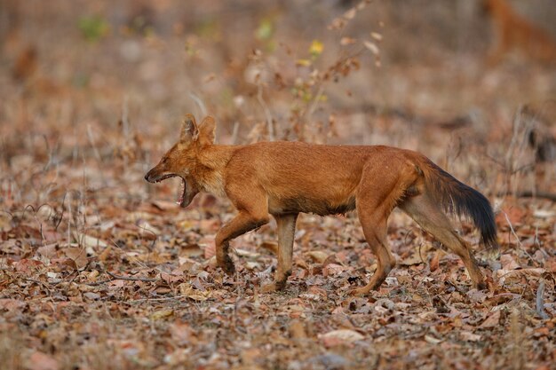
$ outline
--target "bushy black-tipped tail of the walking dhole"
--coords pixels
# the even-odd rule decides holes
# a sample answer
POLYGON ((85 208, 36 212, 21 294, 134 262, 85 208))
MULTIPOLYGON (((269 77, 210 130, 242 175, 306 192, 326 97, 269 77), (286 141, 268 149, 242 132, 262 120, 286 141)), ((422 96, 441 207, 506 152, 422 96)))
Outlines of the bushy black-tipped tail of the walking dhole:
POLYGON ((488 249, 488 254, 498 256, 496 222, 488 199, 426 157, 421 166, 423 166, 427 193, 446 212, 471 218, 475 227, 481 232, 481 243, 488 249))

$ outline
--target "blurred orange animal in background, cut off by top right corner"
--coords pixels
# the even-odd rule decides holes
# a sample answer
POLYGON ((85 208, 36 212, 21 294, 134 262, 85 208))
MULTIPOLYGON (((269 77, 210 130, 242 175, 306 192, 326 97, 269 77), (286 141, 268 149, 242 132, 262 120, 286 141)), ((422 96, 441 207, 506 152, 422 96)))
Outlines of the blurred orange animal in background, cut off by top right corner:
POLYGON ((556 41, 544 29, 520 16, 505 0, 483 0, 483 7, 493 20, 497 38, 488 55, 489 66, 512 50, 544 64, 556 64, 556 41))

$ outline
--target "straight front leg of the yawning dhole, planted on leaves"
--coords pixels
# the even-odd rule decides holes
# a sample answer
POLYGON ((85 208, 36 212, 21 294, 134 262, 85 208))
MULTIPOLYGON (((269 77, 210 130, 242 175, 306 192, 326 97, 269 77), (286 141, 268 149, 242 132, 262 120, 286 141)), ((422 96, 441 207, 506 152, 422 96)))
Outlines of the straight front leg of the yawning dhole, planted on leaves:
POLYGON ((293 240, 296 232, 298 214, 274 216, 278 225, 278 268, 274 275, 274 283, 262 287, 262 292, 282 290, 291 274, 291 257, 293 256, 293 240))

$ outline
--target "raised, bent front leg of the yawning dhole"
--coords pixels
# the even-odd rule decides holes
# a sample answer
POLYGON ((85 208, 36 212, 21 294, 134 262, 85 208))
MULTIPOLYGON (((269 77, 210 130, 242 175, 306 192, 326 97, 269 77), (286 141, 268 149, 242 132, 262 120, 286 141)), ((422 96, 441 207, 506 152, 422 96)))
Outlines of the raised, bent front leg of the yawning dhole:
POLYGON ((240 211, 232 221, 222 226, 216 234, 216 261, 218 266, 227 274, 235 272, 234 261, 228 255, 230 240, 237 238, 245 232, 250 232, 263 224, 268 223, 268 216, 253 216, 249 212, 240 211))

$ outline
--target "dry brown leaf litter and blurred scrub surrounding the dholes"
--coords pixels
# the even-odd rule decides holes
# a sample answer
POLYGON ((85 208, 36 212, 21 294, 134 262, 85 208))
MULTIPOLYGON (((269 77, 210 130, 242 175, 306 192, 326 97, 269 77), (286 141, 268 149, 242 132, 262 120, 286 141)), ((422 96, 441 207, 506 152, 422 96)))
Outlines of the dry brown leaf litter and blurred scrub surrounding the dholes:
MULTIPOLYGON (((554 368, 553 67, 486 67, 468 0, 187 3, 0 1, 0 367, 554 368), (399 265, 367 297, 346 294, 376 267, 352 214, 300 217, 284 292, 258 292, 273 224, 234 241, 225 276, 230 205, 179 209, 177 182, 143 180, 187 112, 220 143, 428 155, 496 205, 488 290, 401 213, 399 265)), ((556 35, 551 0, 526 3, 556 35)))

